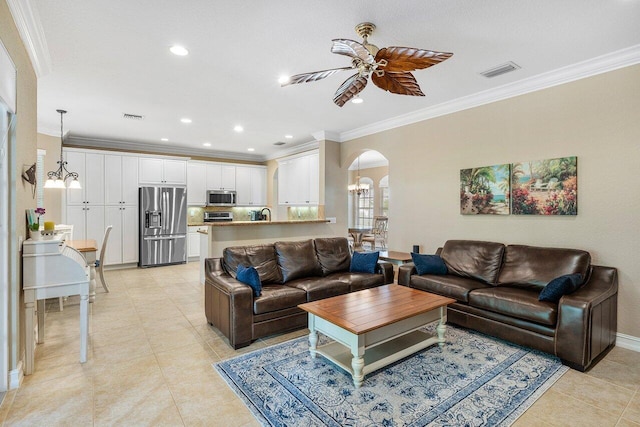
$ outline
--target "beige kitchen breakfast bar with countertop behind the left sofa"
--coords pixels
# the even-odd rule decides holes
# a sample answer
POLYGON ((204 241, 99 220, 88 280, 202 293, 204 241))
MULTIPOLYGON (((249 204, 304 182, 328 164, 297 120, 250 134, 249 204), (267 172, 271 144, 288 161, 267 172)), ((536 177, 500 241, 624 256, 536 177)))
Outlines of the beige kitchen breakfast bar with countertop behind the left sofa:
POLYGON ((221 257, 224 248, 341 235, 334 228, 335 224, 330 224, 326 219, 199 222, 189 225, 208 227, 206 232, 199 232, 200 278, 203 283, 204 259, 221 257))

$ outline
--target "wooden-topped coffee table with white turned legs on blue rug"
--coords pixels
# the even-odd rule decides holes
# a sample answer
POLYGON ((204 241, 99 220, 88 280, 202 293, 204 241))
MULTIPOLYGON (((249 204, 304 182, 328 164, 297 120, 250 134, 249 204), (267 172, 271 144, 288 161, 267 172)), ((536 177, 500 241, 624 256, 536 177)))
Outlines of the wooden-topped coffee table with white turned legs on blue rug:
POLYGON ((454 299, 400 285, 385 285, 301 304, 309 313, 309 352, 353 377, 364 376, 430 345, 444 345, 447 304, 454 299), (419 329, 438 321, 437 335, 419 329), (318 332, 334 341, 317 346, 318 332))

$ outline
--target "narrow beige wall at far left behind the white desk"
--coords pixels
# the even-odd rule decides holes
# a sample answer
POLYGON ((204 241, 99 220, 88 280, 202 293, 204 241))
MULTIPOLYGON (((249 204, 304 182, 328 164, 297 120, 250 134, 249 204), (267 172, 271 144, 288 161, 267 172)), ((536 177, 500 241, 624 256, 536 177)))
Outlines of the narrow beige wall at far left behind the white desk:
MULTIPOLYGON (((7 3, 0 1, 0 40, 18 70, 17 82, 17 124, 16 148, 9 149, 10 168, 15 173, 10 176, 10 192, 15 196, 15 206, 9 211, 9 229, 14 230, 9 247, 9 310, 2 313, 9 324, 9 370, 15 370, 23 357, 22 333, 22 259, 18 241, 27 233, 25 209, 35 208, 36 201, 31 195, 31 185, 20 178, 25 167, 36 161, 36 75, 24 45, 15 27, 7 3)), ((8 203, 8 200, 1 200, 8 203)))

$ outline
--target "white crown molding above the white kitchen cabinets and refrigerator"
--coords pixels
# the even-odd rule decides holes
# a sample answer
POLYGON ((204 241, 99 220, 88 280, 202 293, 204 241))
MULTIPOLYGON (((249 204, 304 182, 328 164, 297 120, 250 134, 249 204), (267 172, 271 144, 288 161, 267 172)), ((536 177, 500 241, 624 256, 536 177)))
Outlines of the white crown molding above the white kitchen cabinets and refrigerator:
POLYGON ((188 147, 173 147, 169 145, 148 144, 141 142, 119 141, 112 139, 89 138, 70 135, 64 139, 65 147, 91 147, 104 150, 133 151, 156 154, 173 154, 176 156, 199 156, 216 159, 245 160, 250 162, 263 162, 264 156, 251 154, 231 153, 227 151, 199 150, 188 147))

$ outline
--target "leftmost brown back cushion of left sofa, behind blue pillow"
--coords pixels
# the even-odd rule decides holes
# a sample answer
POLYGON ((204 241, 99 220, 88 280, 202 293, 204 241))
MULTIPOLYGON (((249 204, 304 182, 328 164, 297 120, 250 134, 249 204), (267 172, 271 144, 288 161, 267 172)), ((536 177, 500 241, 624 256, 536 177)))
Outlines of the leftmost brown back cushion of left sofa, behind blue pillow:
POLYGON ((222 252, 225 270, 236 278, 238 265, 250 265, 256 269, 262 284, 282 283, 282 274, 276 261, 274 245, 233 246, 222 252))

